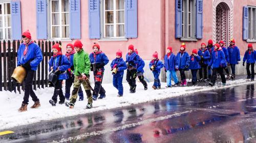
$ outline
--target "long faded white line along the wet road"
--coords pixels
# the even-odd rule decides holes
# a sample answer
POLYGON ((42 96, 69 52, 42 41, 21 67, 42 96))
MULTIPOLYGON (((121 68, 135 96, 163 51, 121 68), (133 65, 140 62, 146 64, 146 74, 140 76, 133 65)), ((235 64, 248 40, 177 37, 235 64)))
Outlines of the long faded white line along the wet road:
POLYGON ((113 129, 106 129, 106 130, 102 130, 102 131, 94 131, 94 132, 83 133, 83 134, 80 134, 80 135, 77 135, 77 136, 74 136, 74 137, 62 138, 59 141, 54 140, 51 143, 69 142, 69 141, 72 141, 72 140, 80 140, 80 139, 86 138, 88 136, 96 136, 96 135, 100 135, 100 134, 104 134, 104 133, 110 133, 110 132, 114 132, 114 131, 118 131, 118 130, 124 130, 126 128, 131 128, 131 127, 135 127, 135 126, 139 126, 139 125, 143 125, 143 124, 148 124, 148 123, 151 123, 151 122, 161 121, 161 120, 169 119, 169 118, 172 118, 172 117, 178 117, 178 116, 181 116, 185 113, 189 113, 189 112, 192 112, 192 111, 193 110, 178 112, 178 113, 174 113, 172 115, 162 116, 162 117, 158 117, 158 118, 155 118, 155 119, 146 119, 146 120, 138 122, 138 123, 127 124, 127 125, 123 125, 123 126, 113 128, 113 129))

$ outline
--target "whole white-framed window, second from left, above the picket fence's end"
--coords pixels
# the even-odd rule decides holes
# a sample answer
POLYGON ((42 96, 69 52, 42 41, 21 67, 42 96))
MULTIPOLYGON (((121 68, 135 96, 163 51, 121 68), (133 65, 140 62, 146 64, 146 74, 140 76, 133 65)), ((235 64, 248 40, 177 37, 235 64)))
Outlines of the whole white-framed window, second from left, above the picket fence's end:
POLYGON ((51 38, 69 38, 69 0, 51 0, 51 38))

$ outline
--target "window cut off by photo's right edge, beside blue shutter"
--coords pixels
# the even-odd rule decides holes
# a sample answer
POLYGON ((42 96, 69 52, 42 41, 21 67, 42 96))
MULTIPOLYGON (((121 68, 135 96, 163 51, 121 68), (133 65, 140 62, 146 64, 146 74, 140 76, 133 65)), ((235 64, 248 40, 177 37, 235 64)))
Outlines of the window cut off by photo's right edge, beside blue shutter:
POLYGON ((256 40, 256 8, 248 8, 248 39, 256 40))

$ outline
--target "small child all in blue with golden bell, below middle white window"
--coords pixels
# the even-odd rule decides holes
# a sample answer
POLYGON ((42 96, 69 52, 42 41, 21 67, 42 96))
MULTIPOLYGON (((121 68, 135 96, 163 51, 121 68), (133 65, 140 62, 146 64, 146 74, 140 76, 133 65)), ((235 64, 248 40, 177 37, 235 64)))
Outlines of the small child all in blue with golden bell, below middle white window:
POLYGON ((118 90, 118 97, 123 96, 123 71, 127 69, 126 63, 122 59, 122 51, 120 49, 116 52, 116 59, 111 63, 112 71, 116 68, 116 73, 113 72, 113 85, 118 90))

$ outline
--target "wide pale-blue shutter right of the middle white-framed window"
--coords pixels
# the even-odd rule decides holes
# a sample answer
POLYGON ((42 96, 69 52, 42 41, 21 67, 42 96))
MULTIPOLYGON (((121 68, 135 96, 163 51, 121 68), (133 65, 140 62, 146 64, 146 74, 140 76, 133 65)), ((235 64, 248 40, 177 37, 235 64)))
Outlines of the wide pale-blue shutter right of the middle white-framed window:
POLYGON ((125 1, 125 37, 138 37, 137 0, 125 1))

